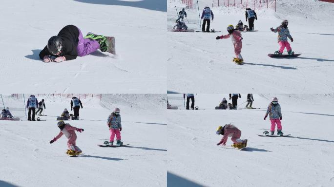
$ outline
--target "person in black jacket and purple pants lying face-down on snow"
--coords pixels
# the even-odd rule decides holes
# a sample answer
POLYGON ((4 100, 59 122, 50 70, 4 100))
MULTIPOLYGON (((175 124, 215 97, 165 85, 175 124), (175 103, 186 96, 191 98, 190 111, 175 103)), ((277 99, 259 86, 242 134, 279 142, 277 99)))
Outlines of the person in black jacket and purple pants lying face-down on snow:
POLYGON ((74 25, 65 26, 57 36, 51 37, 40 53, 44 62, 62 62, 86 56, 96 50, 107 50, 107 40, 104 36, 89 36, 85 38, 80 29, 74 25), (95 38, 89 39, 89 38, 95 38), (51 56, 56 58, 52 59, 51 56))

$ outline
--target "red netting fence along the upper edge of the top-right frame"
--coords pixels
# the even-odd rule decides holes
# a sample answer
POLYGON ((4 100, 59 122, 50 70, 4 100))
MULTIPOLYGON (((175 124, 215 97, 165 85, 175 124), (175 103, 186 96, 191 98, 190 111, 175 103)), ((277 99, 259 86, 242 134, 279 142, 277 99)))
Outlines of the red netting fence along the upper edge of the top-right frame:
POLYGON ((251 8, 261 10, 261 8, 274 8, 276 12, 276 0, 212 0, 212 7, 227 6, 241 9, 251 8))

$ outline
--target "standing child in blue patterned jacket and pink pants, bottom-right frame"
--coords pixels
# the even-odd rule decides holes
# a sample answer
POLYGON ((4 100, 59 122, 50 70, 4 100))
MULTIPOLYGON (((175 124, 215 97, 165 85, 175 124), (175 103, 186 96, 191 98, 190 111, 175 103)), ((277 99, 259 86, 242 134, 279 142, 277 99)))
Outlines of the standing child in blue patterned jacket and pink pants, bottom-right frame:
POLYGON ((278 104, 277 97, 272 98, 271 103, 268 106, 266 115, 263 118, 264 120, 266 120, 268 114, 271 122, 270 134, 273 135, 275 131, 275 126, 277 125, 277 135, 283 136, 282 125, 281 125, 281 120, 282 120, 281 106, 278 104))

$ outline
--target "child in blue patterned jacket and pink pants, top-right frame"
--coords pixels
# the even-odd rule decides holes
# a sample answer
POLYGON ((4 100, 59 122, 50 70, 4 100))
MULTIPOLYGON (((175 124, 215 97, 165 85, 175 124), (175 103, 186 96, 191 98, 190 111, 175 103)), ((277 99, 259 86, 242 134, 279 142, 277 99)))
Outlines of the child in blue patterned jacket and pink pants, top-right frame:
POLYGON ((293 55, 294 52, 291 49, 290 43, 288 42, 288 37, 291 39, 291 42, 293 42, 293 38, 290 35, 290 31, 288 28, 288 20, 283 20, 281 25, 276 27, 276 29, 273 29, 272 27, 270 30, 274 33, 278 32, 277 36, 277 42, 280 46, 278 51, 275 51, 274 54, 282 55, 284 48, 287 48, 288 54, 293 55))

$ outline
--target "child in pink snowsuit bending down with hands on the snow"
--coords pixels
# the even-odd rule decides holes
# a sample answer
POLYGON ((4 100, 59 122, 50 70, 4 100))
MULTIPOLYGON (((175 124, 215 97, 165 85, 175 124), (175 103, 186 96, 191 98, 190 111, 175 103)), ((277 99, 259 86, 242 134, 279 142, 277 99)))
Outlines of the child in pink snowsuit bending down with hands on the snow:
POLYGON ((232 147, 242 149, 247 146, 247 139, 242 140, 240 139, 241 131, 236 128, 234 125, 226 124, 224 127, 219 126, 216 132, 218 135, 223 135, 222 140, 218 142, 217 146, 220 144, 226 145, 226 142, 228 140, 228 137, 231 137, 231 140, 233 142, 232 147))

